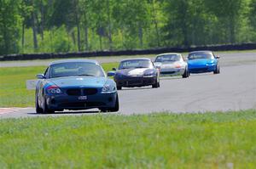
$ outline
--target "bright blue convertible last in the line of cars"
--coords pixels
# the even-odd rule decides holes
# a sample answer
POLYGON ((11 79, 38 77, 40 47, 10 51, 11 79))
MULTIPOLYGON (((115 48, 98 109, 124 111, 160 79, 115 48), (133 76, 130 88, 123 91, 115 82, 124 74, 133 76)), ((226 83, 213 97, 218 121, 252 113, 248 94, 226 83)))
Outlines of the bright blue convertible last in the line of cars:
POLYGON ((188 67, 189 73, 219 73, 219 57, 214 55, 212 51, 195 51, 189 53, 188 67))

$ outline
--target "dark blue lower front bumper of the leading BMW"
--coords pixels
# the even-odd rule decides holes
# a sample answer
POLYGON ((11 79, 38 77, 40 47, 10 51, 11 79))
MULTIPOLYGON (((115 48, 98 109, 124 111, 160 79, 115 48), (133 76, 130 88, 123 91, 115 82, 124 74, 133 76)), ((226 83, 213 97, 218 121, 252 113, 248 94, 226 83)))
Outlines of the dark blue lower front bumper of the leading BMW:
POLYGON ((96 93, 86 96, 86 99, 79 99, 79 96, 67 94, 46 95, 46 102, 49 110, 86 110, 93 108, 114 107, 117 93, 96 93))

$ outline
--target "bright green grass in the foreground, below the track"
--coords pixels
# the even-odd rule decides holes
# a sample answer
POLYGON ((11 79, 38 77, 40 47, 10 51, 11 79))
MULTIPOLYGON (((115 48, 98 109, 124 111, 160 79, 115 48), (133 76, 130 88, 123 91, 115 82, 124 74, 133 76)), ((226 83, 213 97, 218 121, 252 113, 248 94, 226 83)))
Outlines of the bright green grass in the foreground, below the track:
POLYGON ((0 120, 0 168, 255 168, 256 110, 0 120))

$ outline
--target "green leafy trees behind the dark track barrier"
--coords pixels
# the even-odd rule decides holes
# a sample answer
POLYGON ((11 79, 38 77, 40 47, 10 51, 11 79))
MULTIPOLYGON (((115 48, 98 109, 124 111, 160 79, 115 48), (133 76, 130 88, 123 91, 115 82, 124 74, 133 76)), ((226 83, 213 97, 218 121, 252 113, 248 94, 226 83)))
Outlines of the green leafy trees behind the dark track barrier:
POLYGON ((0 54, 256 42, 256 0, 0 0, 0 54))

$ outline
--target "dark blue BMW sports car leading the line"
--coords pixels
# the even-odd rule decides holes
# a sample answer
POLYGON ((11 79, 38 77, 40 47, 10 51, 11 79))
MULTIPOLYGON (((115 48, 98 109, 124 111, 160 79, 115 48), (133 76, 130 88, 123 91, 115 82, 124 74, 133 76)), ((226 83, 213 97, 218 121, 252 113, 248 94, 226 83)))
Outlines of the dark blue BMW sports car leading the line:
POLYGON ((95 60, 65 59, 49 64, 38 74, 36 86, 37 113, 62 110, 118 111, 116 83, 95 60))

